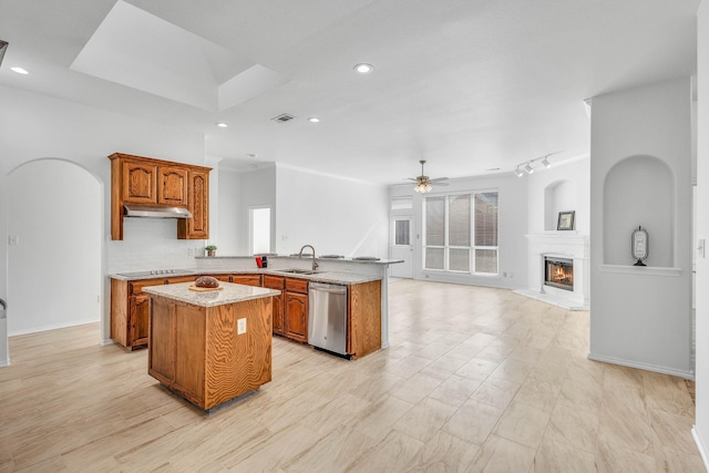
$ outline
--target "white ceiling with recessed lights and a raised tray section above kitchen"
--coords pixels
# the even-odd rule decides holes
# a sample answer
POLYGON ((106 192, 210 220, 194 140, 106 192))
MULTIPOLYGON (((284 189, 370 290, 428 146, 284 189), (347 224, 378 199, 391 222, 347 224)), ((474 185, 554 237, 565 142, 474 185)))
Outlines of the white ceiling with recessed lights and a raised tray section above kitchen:
POLYGON ((3 0, 0 84, 198 131, 237 167, 510 173, 588 155, 584 99, 693 74, 699 2, 3 0))

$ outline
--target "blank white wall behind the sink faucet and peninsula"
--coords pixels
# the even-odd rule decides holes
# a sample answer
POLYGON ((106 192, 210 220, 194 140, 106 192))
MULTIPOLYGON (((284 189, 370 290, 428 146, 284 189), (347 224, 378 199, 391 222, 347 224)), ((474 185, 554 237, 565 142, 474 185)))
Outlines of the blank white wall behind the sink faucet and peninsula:
POLYGON ((386 187, 278 165, 277 189, 277 253, 388 258, 386 187))

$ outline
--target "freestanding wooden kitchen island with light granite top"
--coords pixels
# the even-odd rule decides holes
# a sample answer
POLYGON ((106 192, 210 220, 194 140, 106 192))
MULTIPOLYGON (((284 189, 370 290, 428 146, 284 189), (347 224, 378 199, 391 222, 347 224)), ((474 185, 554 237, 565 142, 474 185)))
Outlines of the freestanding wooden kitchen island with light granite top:
POLYGON ((193 284, 143 288, 151 295, 147 372, 208 411, 270 381, 279 292, 230 282, 201 292, 193 284))

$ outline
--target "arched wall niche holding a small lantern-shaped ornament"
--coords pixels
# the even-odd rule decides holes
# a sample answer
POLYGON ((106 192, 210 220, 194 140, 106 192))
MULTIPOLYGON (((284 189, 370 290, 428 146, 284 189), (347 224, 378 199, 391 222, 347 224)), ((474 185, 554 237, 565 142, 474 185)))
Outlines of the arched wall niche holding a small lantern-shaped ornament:
POLYGON ((628 156, 616 163, 604 181, 603 256, 606 265, 635 263, 633 230, 649 234, 647 266, 674 267, 675 178, 655 156, 628 156))

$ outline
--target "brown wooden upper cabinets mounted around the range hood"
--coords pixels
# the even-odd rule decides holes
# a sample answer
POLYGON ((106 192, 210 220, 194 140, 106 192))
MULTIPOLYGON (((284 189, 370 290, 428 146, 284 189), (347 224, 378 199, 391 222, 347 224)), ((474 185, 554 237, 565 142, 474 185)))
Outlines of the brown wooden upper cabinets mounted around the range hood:
POLYGON ((111 160, 111 239, 123 239, 123 206, 187 208, 177 238, 209 238, 209 167, 114 153, 111 160))

